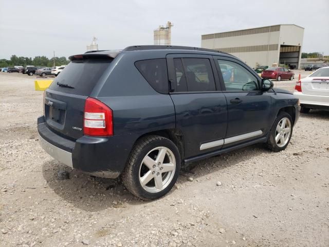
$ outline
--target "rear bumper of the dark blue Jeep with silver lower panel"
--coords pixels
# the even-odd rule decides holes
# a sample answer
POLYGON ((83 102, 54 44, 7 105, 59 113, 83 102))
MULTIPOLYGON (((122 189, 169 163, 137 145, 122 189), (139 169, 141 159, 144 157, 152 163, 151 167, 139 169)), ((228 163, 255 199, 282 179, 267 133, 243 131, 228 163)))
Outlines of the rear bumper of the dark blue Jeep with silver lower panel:
POLYGON ((43 116, 38 118, 38 132, 41 147, 54 159, 84 173, 110 179, 119 177, 136 140, 128 134, 66 139, 48 128, 43 116))

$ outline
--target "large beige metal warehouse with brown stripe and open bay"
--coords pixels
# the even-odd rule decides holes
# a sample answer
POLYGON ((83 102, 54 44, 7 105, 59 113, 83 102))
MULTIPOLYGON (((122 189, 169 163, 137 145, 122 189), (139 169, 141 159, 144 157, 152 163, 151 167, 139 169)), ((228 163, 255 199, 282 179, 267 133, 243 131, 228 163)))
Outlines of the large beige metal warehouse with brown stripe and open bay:
POLYGON ((300 67, 304 28, 294 24, 205 34, 201 47, 228 52, 250 67, 288 64, 300 67))

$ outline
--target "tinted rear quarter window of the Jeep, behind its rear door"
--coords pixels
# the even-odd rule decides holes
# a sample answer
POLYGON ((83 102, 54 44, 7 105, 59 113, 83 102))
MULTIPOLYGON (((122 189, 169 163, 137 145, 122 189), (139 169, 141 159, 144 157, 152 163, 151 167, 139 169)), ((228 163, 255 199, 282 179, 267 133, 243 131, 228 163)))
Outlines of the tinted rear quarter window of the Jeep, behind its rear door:
POLYGON ((159 93, 168 93, 168 75, 166 59, 150 59, 135 62, 140 74, 159 93))

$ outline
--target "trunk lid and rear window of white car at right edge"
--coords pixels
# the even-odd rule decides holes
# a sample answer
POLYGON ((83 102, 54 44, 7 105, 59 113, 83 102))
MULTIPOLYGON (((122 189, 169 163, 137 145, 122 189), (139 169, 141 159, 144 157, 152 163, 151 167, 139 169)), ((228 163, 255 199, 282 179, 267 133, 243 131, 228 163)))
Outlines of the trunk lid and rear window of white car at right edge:
POLYGON ((302 93, 329 96, 329 68, 320 68, 302 80, 302 93))

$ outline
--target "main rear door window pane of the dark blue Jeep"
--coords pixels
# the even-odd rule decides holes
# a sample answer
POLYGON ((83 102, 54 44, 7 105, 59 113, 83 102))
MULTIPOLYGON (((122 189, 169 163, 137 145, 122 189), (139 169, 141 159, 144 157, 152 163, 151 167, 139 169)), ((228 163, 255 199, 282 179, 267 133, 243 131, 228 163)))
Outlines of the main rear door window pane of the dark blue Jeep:
POLYGON ((185 75, 189 92, 215 91, 215 81, 209 59, 184 58, 185 75))

